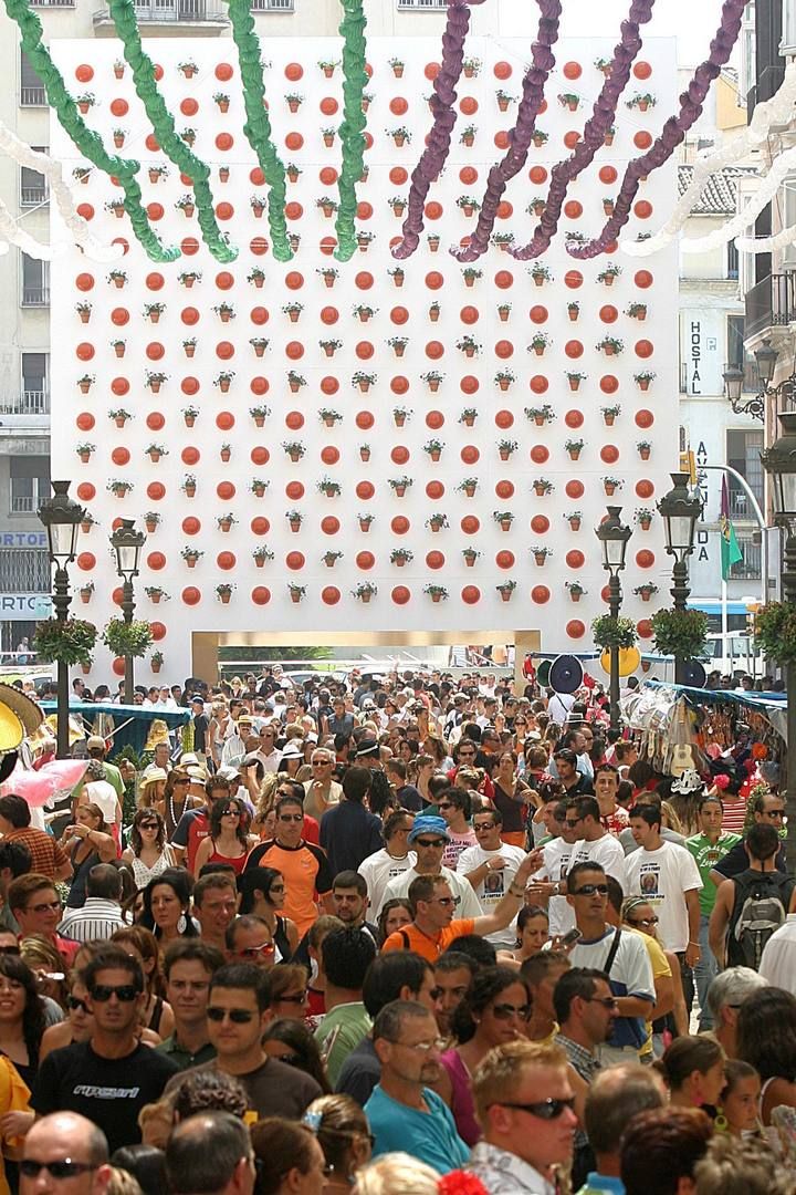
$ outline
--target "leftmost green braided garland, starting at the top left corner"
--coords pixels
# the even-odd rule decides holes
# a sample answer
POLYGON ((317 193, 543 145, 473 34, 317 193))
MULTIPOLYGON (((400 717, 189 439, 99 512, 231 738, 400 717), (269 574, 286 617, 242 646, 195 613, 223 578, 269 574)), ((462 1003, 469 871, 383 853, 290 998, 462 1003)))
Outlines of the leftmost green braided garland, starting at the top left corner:
POLYGON ((6 12, 21 33, 21 45, 33 69, 44 84, 47 99, 54 109, 62 129, 93 166, 105 174, 118 178, 124 190, 124 210, 130 217, 132 232, 147 257, 153 262, 173 262, 180 256, 177 247, 167 247, 149 223, 142 203, 141 188, 135 174, 141 164, 132 158, 118 158, 105 151, 101 137, 88 128, 80 116, 72 96, 67 91, 63 75, 42 42, 42 23, 25 0, 5 0, 6 12))

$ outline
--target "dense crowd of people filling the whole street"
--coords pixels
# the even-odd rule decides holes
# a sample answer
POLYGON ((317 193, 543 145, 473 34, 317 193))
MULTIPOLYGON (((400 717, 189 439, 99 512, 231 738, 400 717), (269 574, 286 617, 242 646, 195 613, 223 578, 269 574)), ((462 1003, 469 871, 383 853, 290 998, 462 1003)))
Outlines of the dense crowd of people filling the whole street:
POLYGON ((665 774, 489 673, 155 692, 192 741, 90 735, 57 834, 0 797, 0 1195, 796 1193, 746 743, 665 774))

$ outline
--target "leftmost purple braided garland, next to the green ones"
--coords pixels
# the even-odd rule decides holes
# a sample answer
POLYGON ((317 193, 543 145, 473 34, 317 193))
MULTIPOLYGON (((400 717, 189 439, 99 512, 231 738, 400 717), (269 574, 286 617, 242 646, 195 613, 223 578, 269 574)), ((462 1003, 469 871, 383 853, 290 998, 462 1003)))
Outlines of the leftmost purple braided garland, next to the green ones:
MULTIPOLYGON (((470 0, 470 2, 481 4, 482 0, 470 0)), ((439 177, 450 153, 451 134, 456 124, 455 88, 462 74, 464 39, 469 27, 470 8, 467 0, 450 0, 448 24, 443 33, 443 61, 439 74, 434 79, 434 93, 431 97, 434 123, 428 134, 428 143, 412 171, 407 214, 401 227, 403 237, 393 249, 393 257, 399 259, 411 257, 420 243, 426 196, 431 184, 439 177)))

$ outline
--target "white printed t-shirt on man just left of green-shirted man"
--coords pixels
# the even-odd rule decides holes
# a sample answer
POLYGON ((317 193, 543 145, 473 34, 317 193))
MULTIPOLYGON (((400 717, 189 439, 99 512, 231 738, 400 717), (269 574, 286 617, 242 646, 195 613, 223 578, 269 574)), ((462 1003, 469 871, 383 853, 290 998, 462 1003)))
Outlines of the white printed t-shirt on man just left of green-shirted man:
POLYGON ((658 938, 665 950, 681 954, 689 944, 685 893, 698 891, 702 878, 696 859, 684 846, 664 841, 656 851, 643 847, 624 860, 627 895, 643 896, 658 914, 658 938))

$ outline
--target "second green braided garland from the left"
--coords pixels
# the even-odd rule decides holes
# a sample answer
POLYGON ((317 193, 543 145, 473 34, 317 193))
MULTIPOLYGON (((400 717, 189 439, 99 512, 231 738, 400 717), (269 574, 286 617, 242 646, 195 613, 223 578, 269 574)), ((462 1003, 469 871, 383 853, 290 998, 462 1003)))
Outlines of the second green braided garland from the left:
POLYGON ((130 63, 136 96, 142 102, 165 154, 184 174, 190 174, 196 195, 197 220, 204 243, 217 262, 234 262, 237 250, 218 228, 210 190, 210 167, 197 158, 174 128, 174 118, 158 91, 155 68, 144 54, 132 0, 109 0, 116 32, 124 45, 124 57, 130 63))

